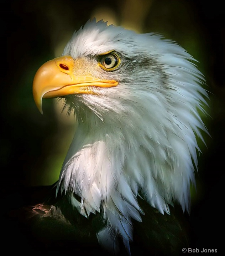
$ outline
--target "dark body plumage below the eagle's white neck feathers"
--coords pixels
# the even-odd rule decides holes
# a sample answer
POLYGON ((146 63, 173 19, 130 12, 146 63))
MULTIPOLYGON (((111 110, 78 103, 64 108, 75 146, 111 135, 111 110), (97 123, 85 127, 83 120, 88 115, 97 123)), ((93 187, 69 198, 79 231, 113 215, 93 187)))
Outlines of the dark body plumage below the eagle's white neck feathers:
MULTIPOLYGON (((105 225, 102 216, 96 213, 87 219, 78 211, 74 214, 74 208, 65 200, 66 195, 55 198, 55 190, 55 185, 19 190, 21 207, 5 215, 7 227, 13 229, 13 233, 8 234, 15 241, 11 251, 64 256, 108 254, 96 237, 105 225)), ((171 215, 162 215, 144 200, 138 203, 146 214, 143 222, 133 222, 131 254, 181 255, 182 248, 188 246, 188 215, 183 214, 179 205, 170 208, 171 215)), ((119 247, 117 255, 128 255, 122 240, 119 247)))

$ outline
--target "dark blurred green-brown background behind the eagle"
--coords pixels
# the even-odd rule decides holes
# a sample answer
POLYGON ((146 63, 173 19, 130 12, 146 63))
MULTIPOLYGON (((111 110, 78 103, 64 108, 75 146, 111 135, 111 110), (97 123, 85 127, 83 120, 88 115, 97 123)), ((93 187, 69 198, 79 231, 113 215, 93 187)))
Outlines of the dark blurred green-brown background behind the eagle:
POLYGON ((72 33, 96 17, 138 32, 163 34, 199 61, 210 92, 209 117, 204 118, 211 138, 204 134, 207 147, 200 145, 191 243, 199 249, 222 248, 225 29, 219 0, 10 0, 1 1, 1 17, 1 38, 7 42, 1 51, 1 206, 20 207, 21 188, 57 181, 74 120, 61 114, 54 100, 44 101, 42 116, 33 101, 32 81, 38 67, 60 56, 72 33))

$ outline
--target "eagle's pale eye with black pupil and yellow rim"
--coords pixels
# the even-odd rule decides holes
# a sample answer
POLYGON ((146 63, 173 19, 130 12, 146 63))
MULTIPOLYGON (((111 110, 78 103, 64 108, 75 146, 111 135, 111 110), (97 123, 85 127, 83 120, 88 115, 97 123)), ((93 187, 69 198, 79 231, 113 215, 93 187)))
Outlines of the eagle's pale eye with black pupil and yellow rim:
POLYGON ((120 58, 115 52, 99 56, 99 66, 107 71, 115 70, 120 64, 120 58))

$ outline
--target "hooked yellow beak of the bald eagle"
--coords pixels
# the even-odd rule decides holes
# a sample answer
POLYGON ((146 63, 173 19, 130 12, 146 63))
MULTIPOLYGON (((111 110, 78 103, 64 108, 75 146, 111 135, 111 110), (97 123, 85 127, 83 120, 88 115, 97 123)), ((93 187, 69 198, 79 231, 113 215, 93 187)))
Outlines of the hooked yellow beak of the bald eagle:
POLYGON ((63 56, 47 61, 38 69, 33 80, 33 98, 42 114, 42 98, 56 98, 78 93, 94 94, 91 86, 118 85, 114 80, 100 80, 88 72, 76 72, 79 68, 85 70, 82 61, 63 56), (74 73, 82 73, 82 75, 75 76, 74 73))

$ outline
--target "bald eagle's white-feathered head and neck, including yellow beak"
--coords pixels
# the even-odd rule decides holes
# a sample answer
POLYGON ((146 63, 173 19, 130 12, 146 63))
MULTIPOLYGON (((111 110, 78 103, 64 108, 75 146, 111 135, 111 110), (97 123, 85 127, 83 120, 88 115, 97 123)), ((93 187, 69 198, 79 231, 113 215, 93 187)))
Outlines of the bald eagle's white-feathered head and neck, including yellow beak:
POLYGON ((162 216, 174 203, 189 212, 197 137, 207 132, 199 110, 208 94, 194 62, 159 35, 92 20, 35 75, 40 112, 42 98, 61 97, 77 119, 54 195, 67 208, 57 212, 100 213, 96 235, 109 251, 121 240, 131 253, 134 223, 148 214, 140 201, 162 216))

